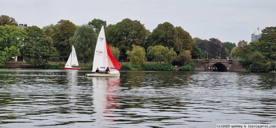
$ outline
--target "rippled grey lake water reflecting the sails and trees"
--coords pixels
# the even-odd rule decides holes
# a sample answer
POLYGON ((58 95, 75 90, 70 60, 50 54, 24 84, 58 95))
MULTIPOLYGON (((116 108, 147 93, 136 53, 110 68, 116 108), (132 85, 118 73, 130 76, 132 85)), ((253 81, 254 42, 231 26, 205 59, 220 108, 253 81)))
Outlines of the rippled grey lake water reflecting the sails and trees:
POLYGON ((276 124, 276 73, 0 69, 0 127, 276 124))

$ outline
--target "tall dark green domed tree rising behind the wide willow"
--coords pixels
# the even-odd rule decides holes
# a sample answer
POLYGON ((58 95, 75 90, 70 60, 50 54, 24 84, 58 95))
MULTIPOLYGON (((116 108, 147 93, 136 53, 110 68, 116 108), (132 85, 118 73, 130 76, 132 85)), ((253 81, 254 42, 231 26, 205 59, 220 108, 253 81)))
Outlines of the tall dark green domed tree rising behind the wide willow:
POLYGON ((148 41, 151 42, 151 46, 162 45, 168 48, 174 48, 174 51, 178 52, 180 48, 180 41, 177 39, 178 31, 174 26, 165 22, 159 24, 148 36, 148 41))

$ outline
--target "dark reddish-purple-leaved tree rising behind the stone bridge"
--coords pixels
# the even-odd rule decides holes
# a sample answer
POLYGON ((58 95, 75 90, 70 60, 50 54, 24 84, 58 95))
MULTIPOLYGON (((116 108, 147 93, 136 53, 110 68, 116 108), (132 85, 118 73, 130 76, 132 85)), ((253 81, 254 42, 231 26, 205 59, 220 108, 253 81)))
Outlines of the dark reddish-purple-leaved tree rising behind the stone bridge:
MULTIPOLYGON (((208 43, 206 44, 206 52, 209 53, 208 58, 214 59, 226 59, 227 52, 223 43, 219 39, 210 38, 208 43)), ((205 54, 207 58, 207 54, 205 54)))

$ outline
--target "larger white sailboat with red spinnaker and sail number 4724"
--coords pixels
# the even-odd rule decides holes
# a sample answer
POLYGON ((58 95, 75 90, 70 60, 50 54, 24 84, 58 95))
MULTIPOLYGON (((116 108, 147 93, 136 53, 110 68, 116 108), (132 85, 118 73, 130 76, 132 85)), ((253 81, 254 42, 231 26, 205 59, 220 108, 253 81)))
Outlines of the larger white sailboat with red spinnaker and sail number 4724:
POLYGON ((109 67, 109 73, 91 73, 85 76, 90 77, 120 77, 119 69, 121 65, 112 55, 107 41, 105 39, 105 30, 102 26, 100 34, 98 36, 98 41, 95 48, 94 60, 93 60, 93 72, 99 68, 100 71, 104 71, 109 67))

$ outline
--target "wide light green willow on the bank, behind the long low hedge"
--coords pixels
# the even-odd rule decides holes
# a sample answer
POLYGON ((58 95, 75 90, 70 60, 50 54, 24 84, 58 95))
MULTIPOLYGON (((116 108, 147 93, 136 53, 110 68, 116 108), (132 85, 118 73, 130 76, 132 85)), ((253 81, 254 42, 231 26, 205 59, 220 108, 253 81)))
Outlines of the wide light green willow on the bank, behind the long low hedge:
POLYGON ((176 52, 173 48, 164 47, 161 45, 150 46, 147 49, 147 55, 149 58, 153 58, 155 62, 172 62, 176 58, 176 52))

